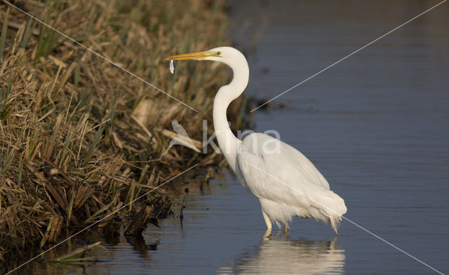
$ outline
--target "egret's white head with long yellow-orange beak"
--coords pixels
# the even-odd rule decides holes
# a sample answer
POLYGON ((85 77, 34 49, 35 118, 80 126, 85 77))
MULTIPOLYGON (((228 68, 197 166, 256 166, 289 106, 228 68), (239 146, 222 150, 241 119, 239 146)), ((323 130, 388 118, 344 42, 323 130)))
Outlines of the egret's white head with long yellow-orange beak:
MULTIPOLYGON (((213 48, 212 50, 206 50, 205 52, 192 52, 185 53, 184 55, 173 55, 171 57, 166 57, 163 60, 212 60, 226 63, 226 60, 232 55, 235 55, 238 52, 241 53, 231 47, 218 47, 213 48)), ((243 55, 242 55, 243 56, 243 55)))

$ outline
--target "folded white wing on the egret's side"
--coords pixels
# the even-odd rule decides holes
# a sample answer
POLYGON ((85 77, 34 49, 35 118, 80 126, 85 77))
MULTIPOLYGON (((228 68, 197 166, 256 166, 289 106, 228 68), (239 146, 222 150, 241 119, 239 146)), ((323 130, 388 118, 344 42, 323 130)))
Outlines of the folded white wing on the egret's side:
POLYGON ((313 206, 329 216, 335 212, 346 213, 343 199, 329 190, 326 179, 314 165, 297 150, 271 136, 247 136, 238 155, 238 165, 246 185, 260 199, 304 209, 313 206), (248 138, 252 140, 247 141, 248 138), (253 146, 255 139, 257 145, 253 146), (272 146, 261 150, 267 141, 274 145, 279 142, 280 150, 273 151, 272 146))

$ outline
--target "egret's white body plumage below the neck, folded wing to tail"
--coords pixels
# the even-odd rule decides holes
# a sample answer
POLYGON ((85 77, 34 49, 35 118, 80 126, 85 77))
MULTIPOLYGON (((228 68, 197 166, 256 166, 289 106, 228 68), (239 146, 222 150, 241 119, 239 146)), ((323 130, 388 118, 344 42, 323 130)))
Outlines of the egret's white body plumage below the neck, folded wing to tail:
POLYGON ((267 223, 288 228, 292 216, 315 218, 330 222, 337 232, 347 211, 344 201, 298 150, 267 134, 250 134, 243 139, 237 160, 243 185, 259 199, 267 223), (273 148, 263 150, 263 144, 273 148))

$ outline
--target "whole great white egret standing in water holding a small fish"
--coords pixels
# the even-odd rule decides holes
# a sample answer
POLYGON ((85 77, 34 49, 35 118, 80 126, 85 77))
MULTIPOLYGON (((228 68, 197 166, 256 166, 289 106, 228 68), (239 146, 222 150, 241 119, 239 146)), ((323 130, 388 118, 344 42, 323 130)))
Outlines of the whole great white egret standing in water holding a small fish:
POLYGON ((271 232, 272 223, 285 232, 293 216, 315 218, 337 227, 346 213, 344 200, 330 190, 326 178, 307 157, 287 143, 267 134, 249 134, 238 139, 229 128, 226 110, 248 85, 246 58, 231 47, 174 55, 164 60, 211 60, 227 64, 234 77, 220 87, 213 102, 213 126, 218 145, 244 188, 259 199, 262 216, 271 232))

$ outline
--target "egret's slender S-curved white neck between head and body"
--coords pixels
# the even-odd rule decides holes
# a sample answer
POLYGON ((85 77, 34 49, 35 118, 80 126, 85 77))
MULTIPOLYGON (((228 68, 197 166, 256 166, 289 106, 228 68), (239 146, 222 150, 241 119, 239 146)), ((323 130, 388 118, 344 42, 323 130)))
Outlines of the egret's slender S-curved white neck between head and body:
MULTIPOLYGON (((243 55, 242 55, 243 57, 243 55)), ((234 71, 234 78, 229 85, 225 85, 218 90, 213 102, 213 126, 218 145, 225 155, 229 166, 236 171, 236 157, 241 141, 232 133, 227 122, 227 107, 237 97, 239 97, 248 85, 249 68, 246 59, 234 59, 227 63, 234 71)))

